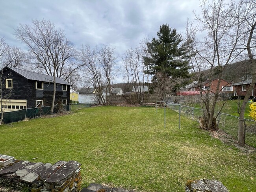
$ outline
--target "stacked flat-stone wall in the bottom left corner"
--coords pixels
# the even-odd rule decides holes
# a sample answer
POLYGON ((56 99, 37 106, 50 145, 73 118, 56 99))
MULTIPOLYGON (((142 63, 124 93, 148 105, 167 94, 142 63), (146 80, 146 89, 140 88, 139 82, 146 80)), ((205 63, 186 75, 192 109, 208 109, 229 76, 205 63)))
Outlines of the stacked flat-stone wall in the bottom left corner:
POLYGON ((80 166, 77 161, 52 165, 16 160, 0 168, 0 186, 29 187, 32 192, 78 192, 82 182, 80 166))

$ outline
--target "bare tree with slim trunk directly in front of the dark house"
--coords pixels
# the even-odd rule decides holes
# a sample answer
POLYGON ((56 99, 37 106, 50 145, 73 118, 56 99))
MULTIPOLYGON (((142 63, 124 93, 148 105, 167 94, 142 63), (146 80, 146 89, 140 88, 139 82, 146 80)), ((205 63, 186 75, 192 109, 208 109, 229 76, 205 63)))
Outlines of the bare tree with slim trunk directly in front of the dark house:
MULTIPOLYGON (((56 76, 61 78, 65 69, 74 59, 74 46, 61 29, 46 20, 32 20, 32 25, 20 24, 15 33, 17 39, 28 46, 30 61, 37 68, 43 68, 48 75, 54 76, 54 92, 51 113, 54 110, 56 76)), ((69 77, 67 75, 66 79, 69 77)))

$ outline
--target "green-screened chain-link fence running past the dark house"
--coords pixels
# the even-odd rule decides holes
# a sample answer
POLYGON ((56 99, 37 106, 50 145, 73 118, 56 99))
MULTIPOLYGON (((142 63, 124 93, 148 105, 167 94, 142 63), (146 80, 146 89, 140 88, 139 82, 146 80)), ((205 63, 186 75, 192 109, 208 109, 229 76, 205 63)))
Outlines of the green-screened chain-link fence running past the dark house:
MULTIPOLYGON (((64 111, 76 111, 83 107, 91 107, 92 103, 72 103, 67 105, 55 105, 54 113, 63 113, 64 111)), ((21 109, 17 111, 4 112, 3 123, 12 123, 25 120, 26 118, 38 118, 50 114, 51 106, 37 107, 30 109, 21 109)))

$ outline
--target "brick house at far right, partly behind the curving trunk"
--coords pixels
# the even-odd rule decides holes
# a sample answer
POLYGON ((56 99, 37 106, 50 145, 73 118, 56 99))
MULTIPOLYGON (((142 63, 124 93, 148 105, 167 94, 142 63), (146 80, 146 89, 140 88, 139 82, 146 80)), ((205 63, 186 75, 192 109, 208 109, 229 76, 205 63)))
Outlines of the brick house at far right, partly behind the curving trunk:
MULTIPOLYGON (((234 83, 233 86, 235 89, 235 96, 245 96, 251 83, 252 79, 234 83)), ((256 85, 254 86, 254 89, 252 89, 250 96, 256 96, 256 85)))

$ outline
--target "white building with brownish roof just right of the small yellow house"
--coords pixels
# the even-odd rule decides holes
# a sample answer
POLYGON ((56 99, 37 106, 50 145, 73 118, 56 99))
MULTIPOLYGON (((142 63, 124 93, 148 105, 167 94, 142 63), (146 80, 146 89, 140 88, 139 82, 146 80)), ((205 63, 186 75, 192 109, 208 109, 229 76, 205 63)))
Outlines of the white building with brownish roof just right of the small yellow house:
POLYGON ((93 87, 83 87, 78 90, 79 103, 97 103, 95 99, 95 91, 93 87))

